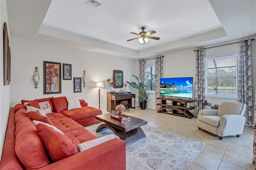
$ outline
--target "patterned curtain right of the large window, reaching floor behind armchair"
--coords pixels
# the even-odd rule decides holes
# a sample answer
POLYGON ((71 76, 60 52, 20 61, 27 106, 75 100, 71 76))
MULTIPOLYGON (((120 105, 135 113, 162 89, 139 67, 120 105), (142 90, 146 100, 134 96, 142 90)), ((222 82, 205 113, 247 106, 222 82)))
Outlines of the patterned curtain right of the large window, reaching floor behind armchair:
POLYGON ((252 123, 252 51, 251 40, 240 41, 238 63, 238 102, 246 104, 245 125, 252 123))

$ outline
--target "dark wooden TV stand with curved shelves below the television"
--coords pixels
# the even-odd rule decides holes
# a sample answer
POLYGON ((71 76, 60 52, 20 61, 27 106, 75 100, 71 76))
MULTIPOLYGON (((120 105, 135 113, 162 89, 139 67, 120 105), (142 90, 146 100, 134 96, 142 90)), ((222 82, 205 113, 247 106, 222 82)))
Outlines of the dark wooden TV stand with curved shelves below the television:
POLYGON ((164 98, 158 97, 157 99, 161 100, 161 103, 157 103, 157 105, 161 106, 161 108, 157 111, 172 115, 178 115, 183 117, 188 117, 191 119, 194 115, 189 111, 195 109, 194 106, 186 107, 186 103, 192 103, 195 100, 185 100, 185 99, 174 99, 174 98, 164 98), (166 104, 166 101, 172 101, 172 104, 166 104), (180 105, 178 105, 180 103, 180 105), (167 111, 166 109, 170 110, 167 111))

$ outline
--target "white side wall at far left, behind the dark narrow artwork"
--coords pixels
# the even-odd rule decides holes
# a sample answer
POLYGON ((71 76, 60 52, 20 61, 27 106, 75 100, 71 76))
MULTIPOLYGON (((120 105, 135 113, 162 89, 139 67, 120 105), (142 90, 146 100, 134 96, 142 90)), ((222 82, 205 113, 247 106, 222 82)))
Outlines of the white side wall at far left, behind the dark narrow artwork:
MULTIPOLYGON (((4 22, 7 23, 7 28, 9 28, 8 24, 8 15, 7 15, 7 6, 6 6, 6 0, 1 0, 0 1, 0 23, 2 26, 0 26, 0 141, 1 141, 1 146, 0 146, 0 159, 2 157, 2 148, 4 146, 4 138, 5 138, 5 132, 6 132, 6 127, 7 127, 7 121, 8 121, 8 116, 9 116, 9 110, 10 110, 10 85, 5 85, 3 83, 3 65, 4 65, 4 54, 2 51, 3 50, 3 25, 4 22), (3 105, 1 105, 1 103, 3 105)), ((9 29, 7 29, 9 30, 9 29)), ((9 38, 10 38, 10 33, 9 38)), ((12 47, 12 42, 9 43, 10 47, 12 47)), ((12 83, 12 82, 11 82, 12 83)))

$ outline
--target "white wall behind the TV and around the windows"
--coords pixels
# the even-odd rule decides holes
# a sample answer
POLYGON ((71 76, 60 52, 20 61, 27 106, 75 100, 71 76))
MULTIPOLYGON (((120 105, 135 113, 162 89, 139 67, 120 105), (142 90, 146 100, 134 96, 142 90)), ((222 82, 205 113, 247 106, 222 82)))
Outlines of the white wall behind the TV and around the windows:
MULTIPOLYGON (((255 37, 253 37, 255 38, 255 37)), ((225 42, 220 44, 213 44, 207 47, 223 45, 228 43, 239 42, 240 40, 235 40, 232 42, 225 42)), ((256 73, 254 69, 256 68, 256 40, 252 41, 252 83, 253 83, 253 105, 255 103, 255 87, 256 87, 256 73)), ((234 43, 231 45, 224 45, 221 47, 214 47, 205 50, 205 55, 216 56, 230 53, 239 52, 239 43, 234 43)), ((180 51, 176 53, 165 54, 163 58, 163 77, 194 77, 195 80, 195 63, 196 63, 196 53, 194 49, 180 51)), ((137 72, 138 75, 138 62, 137 62, 137 72)), ((193 82, 194 83, 194 82, 193 82)), ((212 105, 220 105, 222 101, 237 101, 237 99, 227 99, 227 98, 214 98, 206 97, 208 103, 212 105)), ((155 94, 151 93, 148 99, 148 108, 155 109, 155 94)), ((210 109, 210 107, 206 107, 210 109)), ((254 108, 254 107, 253 107, 254 108)))

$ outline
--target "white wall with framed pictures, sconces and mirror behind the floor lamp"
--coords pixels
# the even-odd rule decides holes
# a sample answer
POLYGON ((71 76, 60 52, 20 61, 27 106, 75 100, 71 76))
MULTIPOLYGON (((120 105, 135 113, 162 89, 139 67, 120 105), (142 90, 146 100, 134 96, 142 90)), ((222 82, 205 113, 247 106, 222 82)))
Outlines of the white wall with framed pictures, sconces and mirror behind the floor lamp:
MULTIPOLYGON (((113 70, 122 70, 124 72, 124 81, 134 74, 136 70, 134 64, 136 60, 112 57, 18 37, 12 37, 10 41, 12 42, 12 107, 20 103, 22 99, 33 100, 52 96, 77 96, 79 99, 85 99, 88 105, 98 108, 98 89, 94 88, 94 82, 104 81, 104 88, 101 89, 100 93, 100 109, 105 112, 107 110, 106 91, 110 89, 106 80, 108 78, 112 79, 113 70), (72 79, 61 81, 61 94, 44 95, 43 61, 72 64, 72 77, 82 77, 83 70, 85 70, 87 82, 86 87, 82 87, 82 93, 73 92, 72 79), (34 88, 32 80, 34 67, 36 66, 40 74, 38 89, 34 88)), ((118 90, 115 89, 115 91, 118 90)), ((130 91, 129 87, 127 87, 127 91, 130 91)))

